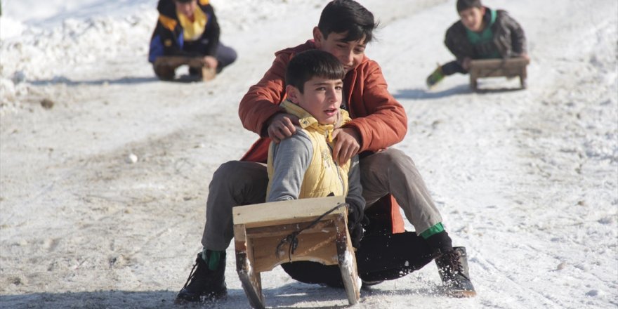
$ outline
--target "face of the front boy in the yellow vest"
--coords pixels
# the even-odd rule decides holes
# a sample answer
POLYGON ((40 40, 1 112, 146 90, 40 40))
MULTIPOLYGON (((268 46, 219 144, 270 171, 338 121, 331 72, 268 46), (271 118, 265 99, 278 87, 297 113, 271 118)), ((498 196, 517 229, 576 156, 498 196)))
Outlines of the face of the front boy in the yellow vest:
POLYGON ((342 89, 341 79, 313 77, 305 81, 303 93, 294 86, 287 86, 287 93, 292 103, 303 107, 320 124, 334 124, 339 117, 342 89))

